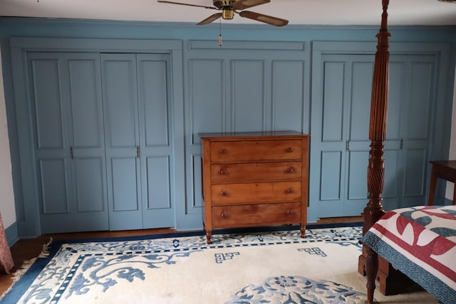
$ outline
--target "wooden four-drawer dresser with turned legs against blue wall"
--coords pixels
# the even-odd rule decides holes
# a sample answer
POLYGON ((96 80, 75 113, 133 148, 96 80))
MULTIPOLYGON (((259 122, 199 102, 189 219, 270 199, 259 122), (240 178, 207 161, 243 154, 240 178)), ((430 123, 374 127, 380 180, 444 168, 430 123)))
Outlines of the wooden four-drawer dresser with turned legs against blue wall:
POLYGON ((203 225, 212 229, 300 224, 309 194, 309 135, 202 133, 203 225))

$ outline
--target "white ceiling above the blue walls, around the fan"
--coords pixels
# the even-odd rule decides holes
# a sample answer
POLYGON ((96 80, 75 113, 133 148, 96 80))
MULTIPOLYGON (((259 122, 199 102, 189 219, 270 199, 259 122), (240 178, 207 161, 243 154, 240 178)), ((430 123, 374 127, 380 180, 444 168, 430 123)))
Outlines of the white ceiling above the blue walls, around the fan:
MULTIPOLYGON (((212 6, 212 0, 172 0, 212 6)), ((249 11, 288 19, 289 24, 378 25, 381 0, 271 0, 249 11)), ((156 0, 0 0, 0 16, 177 21, 197 23, 211 9, 156 0)), ((390 0, 389 25, 456 25, 456 1, 390 0)), ((217 21, 218 22, 218 21, 217 21)), ((257 23, 234 16, 229 23, 257 23)))

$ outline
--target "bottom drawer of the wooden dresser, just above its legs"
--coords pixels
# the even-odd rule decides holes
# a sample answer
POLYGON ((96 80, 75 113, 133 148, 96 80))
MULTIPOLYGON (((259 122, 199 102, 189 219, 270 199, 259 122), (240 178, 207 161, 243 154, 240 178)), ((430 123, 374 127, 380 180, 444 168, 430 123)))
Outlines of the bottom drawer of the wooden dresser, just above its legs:
POLYGON ((300 222, 300 203, 212 207, 212 224, 215 227, 254 226, 264 223, 269 225, 298 224, 300 222))

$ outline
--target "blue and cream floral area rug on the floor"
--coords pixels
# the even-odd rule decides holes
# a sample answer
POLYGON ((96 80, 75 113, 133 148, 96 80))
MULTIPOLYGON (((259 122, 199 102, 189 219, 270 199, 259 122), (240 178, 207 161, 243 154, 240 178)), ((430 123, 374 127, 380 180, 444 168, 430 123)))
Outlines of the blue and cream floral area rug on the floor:
MULTIPOLYGON (((1 303, 366 303, 361 227, 54 241, 1 303)), ((375 294, 437 303, 425 292, 375 294)), ((397 301, 397 302, 396 302, 397 301)))

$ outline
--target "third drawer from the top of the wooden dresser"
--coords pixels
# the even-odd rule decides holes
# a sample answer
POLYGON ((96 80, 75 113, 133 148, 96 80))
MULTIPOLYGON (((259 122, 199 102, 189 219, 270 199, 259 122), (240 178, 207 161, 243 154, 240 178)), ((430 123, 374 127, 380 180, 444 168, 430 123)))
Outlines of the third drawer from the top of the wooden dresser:
POLYGON ((214 184, 212 205, 300 201, 301 182, 214 184))

